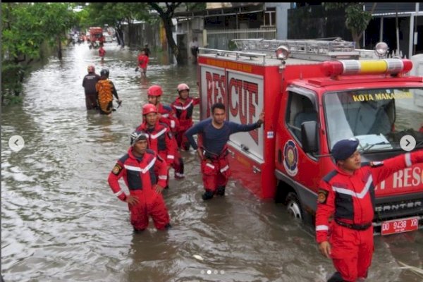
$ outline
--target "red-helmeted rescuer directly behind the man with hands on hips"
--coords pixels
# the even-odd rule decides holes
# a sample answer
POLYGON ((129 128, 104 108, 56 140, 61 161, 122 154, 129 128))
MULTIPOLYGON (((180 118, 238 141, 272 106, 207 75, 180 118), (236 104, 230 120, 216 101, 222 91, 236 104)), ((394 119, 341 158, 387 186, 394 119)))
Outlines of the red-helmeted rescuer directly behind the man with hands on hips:
MULTIPOLYGON (((177 150, 171 130, 166 124, 159 123, 157 109, 153 104, 142 106, 142 117, 142 124, 135 131, 147 133, 149 148, 159 154, 162 159, 165 159, 170 167, 175 161, 175 152, 177 150)), ((165 188, 168 188, 168 178, 165 188)))

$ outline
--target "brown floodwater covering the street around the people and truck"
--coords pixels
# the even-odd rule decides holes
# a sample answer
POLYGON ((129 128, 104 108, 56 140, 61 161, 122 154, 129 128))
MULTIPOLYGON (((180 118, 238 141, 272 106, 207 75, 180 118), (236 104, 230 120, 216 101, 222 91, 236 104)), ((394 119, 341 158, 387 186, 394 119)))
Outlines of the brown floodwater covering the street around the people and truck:
MULTIPOLYGON (((156 231, 150 221, 147 231, 133 233, 127 204, 107 183, 109 172, 142 121, 147 88, 161 85, 165 104, 180 82, 197 96, 197 69, 166 64, 153 52, 147 78, 140 78, 136 50, 116 43, 104 49, 102 63, 87 44, 68 47, 62 61, 51 57, 28 76, 22 105, 2 109, 5 281, 326 281, 332 262, 285 206, 259 200, 233 180, 225 197, 203 202, 194 152, 182 153, 185 179, 175 180, 171 170, 164 191, 173 228, 156 231), (90 64, 97 73, 109 68, 123 100, 111 118, 85 109, 82 78, 90 64), (25 140, 20 152, 8 147, 12 135, 25 140)), ((376 236, 367 281, 422 281, 401 262, 423 268, 422 230, 376 236)))

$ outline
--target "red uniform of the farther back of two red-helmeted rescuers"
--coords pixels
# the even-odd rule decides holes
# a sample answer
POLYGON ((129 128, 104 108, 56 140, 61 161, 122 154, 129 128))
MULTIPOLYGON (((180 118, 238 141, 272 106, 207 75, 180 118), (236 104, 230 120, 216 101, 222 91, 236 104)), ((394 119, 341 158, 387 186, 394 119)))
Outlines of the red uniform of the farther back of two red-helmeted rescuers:
MULTIPOLYGON (((173 116, 173 110, 170 106, 164 106, 163 104, 159 103, 157 104, 157 112, 161 115, 161 118, 159 121, 161 123, 166 123, 169 128, 171 128, 171 131, 173 135, 176 135, 179 130, 179 121, 176 116, 173 116)), ((173 138, 173 142, 175 143, 174 146, 176 147, 175 150, 175 160, 171 164, 173 169, 175 170, 175 178, 183 178, 184 175, 184 166, 183 166, 183 159, 180 157, 179 151, 178 151, 178 144, 176 142, 176 139, 173 138)))

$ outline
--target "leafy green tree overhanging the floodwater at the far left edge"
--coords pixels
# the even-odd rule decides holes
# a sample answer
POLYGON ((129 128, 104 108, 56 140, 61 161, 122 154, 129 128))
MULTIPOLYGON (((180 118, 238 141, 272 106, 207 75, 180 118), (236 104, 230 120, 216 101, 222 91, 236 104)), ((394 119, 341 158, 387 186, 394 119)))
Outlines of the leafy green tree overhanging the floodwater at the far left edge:
POLYGON ((58 47, 66 32, 75 25, 73 4, 1 4, 1 101, 16 100, 22 90, 30 63, 39 59, 43 42, 58 47))

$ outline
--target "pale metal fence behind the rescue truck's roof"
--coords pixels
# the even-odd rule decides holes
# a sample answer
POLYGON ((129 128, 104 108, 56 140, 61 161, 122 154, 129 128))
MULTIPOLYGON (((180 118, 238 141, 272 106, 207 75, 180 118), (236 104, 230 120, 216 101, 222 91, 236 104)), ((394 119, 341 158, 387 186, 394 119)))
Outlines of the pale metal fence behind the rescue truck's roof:
POLYGON ((249 28, 244 30, 206 30, 207 46, 210 49, 234 50, 235 43, 232 39, 276 39, 276 27, 249 28))

